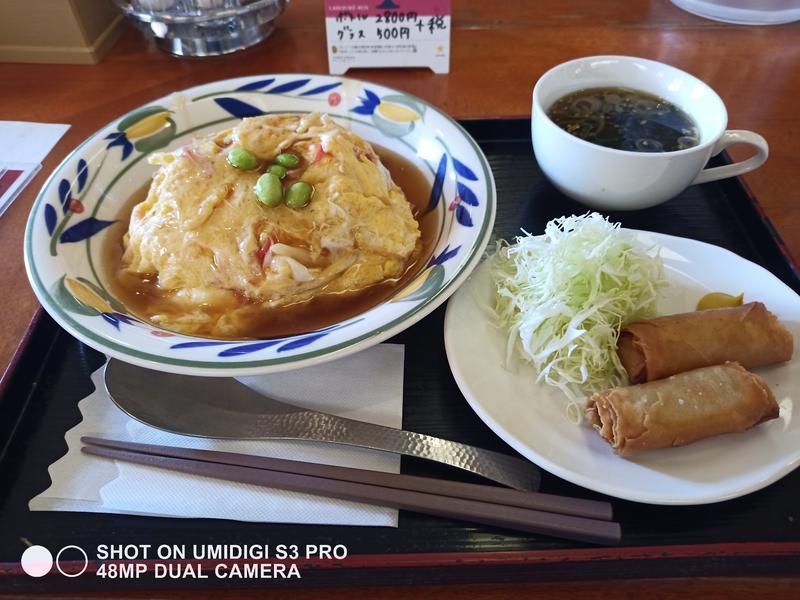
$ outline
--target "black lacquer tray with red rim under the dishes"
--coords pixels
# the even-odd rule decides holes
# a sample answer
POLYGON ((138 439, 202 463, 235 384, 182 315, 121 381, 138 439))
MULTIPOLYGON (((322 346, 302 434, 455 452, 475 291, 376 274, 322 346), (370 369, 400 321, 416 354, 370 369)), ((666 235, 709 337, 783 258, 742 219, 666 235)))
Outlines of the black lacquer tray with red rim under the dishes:
MULTIPOLYGON (((497 237, 520 227, 539 232, 557 216, 585 208, 560 195, 533 158, 529 121, 466 121, 497 182, 497 237)), ((726 158, 714 159, 722 164, 726 158)), ((800 291, 800 277, 776 232, 737 179, 693 186, 661 206, 608 213, 626 227, 717 244, 758 263, 800 291)), ((442 340, 445 307, 392 339, 406 345, 406 429, 513 453, 470 410, 450 374, 442 340)), ((403 512, 397 529, 271 525, 213 519, 30 512, 28 500, 49 485, 47 467, 66 451, 64 433, 79 420, 89 375, 103 356, 42 314, 0 397, 0 591, 402 585, 694 576, 780 576, 800 573, 800 470, 727 502, 660 507, 610 499, 623 527, 619 547, 598 548, 403 512), (86 549, 86 573, 67 578, 25 575, 26 544, 54 553, 86 549), (98 544, 343 544, 344 560, 297 561, 300 579, 100 578, 98 544)), ((459 477, 403 460, 406 473, 459 477)), ((544 473, 542 491, 603 498, 544 473)), ((81 563, 82 564, 82 563, 81 563)), ((148 567, 149 568, 149 567, 148 567)))

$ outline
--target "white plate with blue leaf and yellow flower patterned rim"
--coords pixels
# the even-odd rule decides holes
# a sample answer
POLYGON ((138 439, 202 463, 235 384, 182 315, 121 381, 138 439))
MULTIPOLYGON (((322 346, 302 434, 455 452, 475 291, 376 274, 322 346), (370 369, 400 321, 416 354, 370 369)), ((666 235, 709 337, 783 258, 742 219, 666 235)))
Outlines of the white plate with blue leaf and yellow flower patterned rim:
POLYGON ((154 100, 103 127, 56 168, 25 231, 25 265, 42 306, 72 335, 124 361, 176 373, 239 376, 345 356, 409 327, 442 304, 477 264, 495 215, 495 186, 475 140, 426 102, 326 75, 258 75, 154 100), (416 164, 430 182, 438 234, 421 273, 388 301, 324 329, 277 339, 210 340, 136 318, 109 291, 104 237, 155 167, 146 157, 244 117, 327 112, 416 164))

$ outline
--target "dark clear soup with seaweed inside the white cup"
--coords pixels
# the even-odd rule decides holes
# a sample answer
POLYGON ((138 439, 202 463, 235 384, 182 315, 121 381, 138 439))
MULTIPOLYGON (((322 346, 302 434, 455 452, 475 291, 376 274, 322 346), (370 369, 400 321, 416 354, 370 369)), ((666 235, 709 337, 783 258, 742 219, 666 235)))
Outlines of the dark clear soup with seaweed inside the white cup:
POLYGON ((587 142, 632 152, 673 152, 700 143, 692 119, 671 102, 628 88, 589 88, 555 101, 547 116, 587 142))

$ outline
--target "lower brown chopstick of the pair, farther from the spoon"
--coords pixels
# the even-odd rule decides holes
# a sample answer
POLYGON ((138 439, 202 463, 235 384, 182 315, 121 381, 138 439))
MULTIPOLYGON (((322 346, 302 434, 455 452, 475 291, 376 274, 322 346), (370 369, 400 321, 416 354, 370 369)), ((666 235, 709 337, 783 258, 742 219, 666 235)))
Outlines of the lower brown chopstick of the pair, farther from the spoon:
MULTIPOLYGON (((87 442, 92 438, 81 438, 87 442)), ((158 447, 158 446, 157 446, 158 447)), ((429 515, 505 527, 531 533, 552 535, 596 544, 616 544, 621 538, 618 523, 549 513, 515 506, 467 500, 426 492, 355 483, 283 471, 213 463, 198 459, 175 458, 117 450, 107 446, 85 446, 87 454, 124 460, 173 471, 214 477, 227 481, 275 487, 410 510, 429 515)))

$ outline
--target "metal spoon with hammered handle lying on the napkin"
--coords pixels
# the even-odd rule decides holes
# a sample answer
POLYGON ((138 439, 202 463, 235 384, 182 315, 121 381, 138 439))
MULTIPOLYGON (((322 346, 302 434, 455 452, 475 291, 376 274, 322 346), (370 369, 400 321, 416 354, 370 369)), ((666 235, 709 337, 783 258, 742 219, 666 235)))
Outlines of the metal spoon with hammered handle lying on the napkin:
POLYGON ((172 433, 346 444, 445 463, 517 490, 539 487, 539 469, 526 460, 307 410, 262 396, 235 379, 175 375, 112 359, 106 364, 105 384, 128 415, 172 433))

